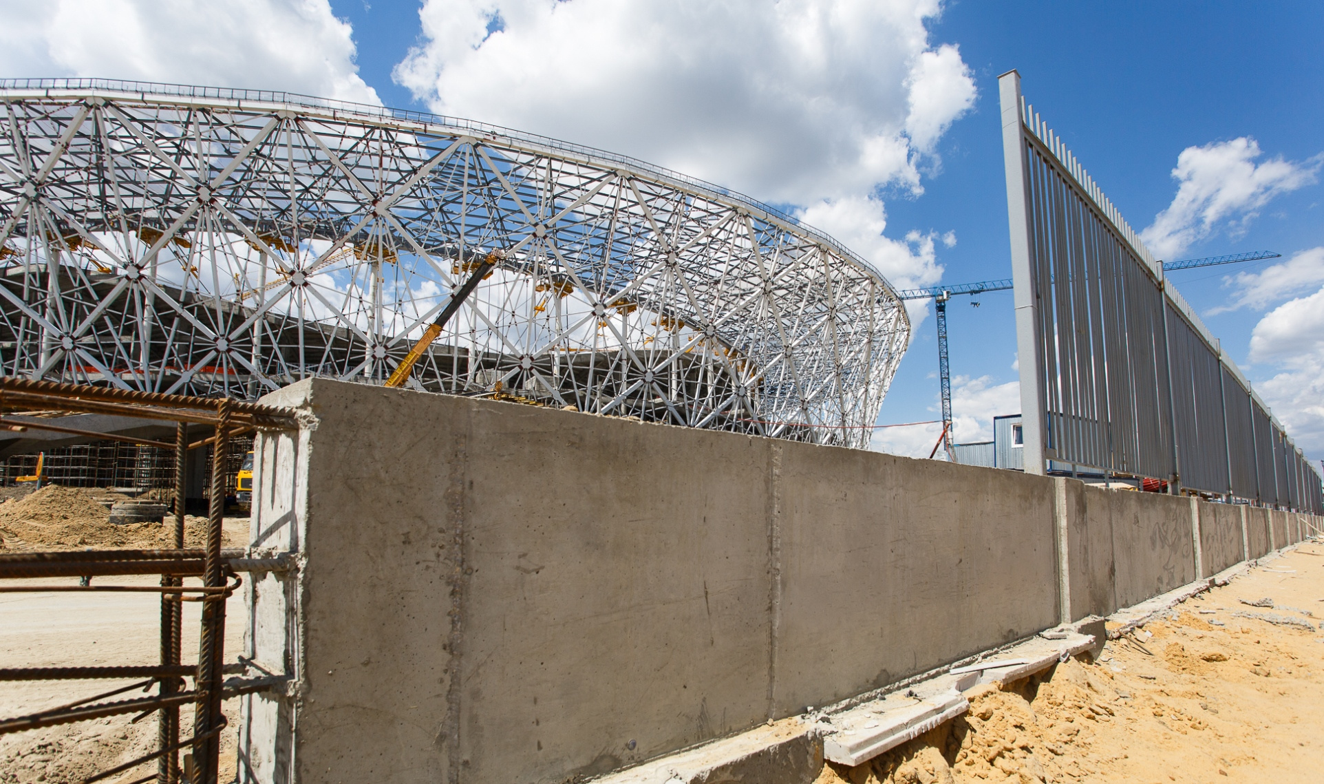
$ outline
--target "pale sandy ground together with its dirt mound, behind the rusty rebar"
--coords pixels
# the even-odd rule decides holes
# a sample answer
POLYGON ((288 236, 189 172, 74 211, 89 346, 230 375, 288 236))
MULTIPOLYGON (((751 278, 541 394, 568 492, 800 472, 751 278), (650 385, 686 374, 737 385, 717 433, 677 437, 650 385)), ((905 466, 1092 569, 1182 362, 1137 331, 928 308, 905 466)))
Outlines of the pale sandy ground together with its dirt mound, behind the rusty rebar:
MULTIPOLYGON (((168 547, 164 526, 114 526, 109 510, 90 501, 97 491, 44 487, 26 498, 0 503, 0 552, 25 550, 168 547), (33 503, 36 501, 37 503, 33 503), (98 511, 99 510, 99 511, 98 511)), ((200 540, 205 518, 189 516, 187 544, 200 540)), ((246 516, 225 518, 225 547, 248 540, 246 516)), ((185 584, 197 584, 196 579, 185 584)), ((77 577, 15 580, 11 585, 77 585, 77 577)), ((159 585, 158 576, 95 577, 93 585, 159 585)), ((184 604, 183 661, 197 661, 200 604, 184 604)), ((248 622, 242 589, 226 601, 225 652, 234 661, 242 650, 248 622)), ((0 595, 0 667, 151 665, 160 657, 160 600, 148 593, 34 592, 0 595)), ((0 716, 19 716, 70 703, 135 679, 7 682, 0 687, 0 716)), ((142 697, 142 690, 107 699, 142 697)), ((234 780, 238 701, 225 703, 230 722, 221 742, 222 781, 234 780)), ((151 752, 156 740, 155 714, 136 723, 134 715, 0 735, 0 783, 82 781, 135 756, 151 752)), ((189 709, 180 716, 181 736, 192 727, 189 709)), ((111 784, 135 781, 156 769, 147 763, 111 784)))

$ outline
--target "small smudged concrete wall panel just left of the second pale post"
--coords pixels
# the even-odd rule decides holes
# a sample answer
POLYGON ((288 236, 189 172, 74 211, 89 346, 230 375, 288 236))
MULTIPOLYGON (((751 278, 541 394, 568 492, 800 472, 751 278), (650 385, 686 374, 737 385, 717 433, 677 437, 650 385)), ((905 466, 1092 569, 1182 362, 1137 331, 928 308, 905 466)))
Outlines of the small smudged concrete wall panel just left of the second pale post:
POLYGON ((1117 607, 1196 579, 1190 502, 1158 493, 1110 493, 1117 607))

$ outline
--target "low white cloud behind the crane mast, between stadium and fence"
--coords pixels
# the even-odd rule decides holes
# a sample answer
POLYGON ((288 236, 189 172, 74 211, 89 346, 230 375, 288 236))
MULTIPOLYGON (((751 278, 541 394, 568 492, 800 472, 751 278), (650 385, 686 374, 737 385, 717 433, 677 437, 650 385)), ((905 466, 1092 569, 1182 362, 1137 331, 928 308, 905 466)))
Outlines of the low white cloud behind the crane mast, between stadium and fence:
MULTIPOLYGON (((940 411, 937 401, 931 411, 940 411)), ((993 440, 993 417, 1021 413, 1021 384, 993 384, 990 376, 952 377, 952 433, 959 444, 993 440)), ((928 457, 943 432, 941 424, 879 428, 869 448, 906 457, 928 457)), ((943 457, 941 450, 933 456, 943 457)))

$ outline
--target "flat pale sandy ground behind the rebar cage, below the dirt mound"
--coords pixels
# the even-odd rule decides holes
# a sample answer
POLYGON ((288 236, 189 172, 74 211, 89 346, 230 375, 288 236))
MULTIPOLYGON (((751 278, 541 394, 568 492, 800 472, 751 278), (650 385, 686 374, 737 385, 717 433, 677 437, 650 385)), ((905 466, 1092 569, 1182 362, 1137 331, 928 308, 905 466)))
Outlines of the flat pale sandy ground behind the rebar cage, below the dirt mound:
MULTIPOLYGON (((226 519, 226 538, 246 536, 246 518, 226 519)), ((77 579, 7 581, 9 585, 77 585, 77 579)), ((185 580, 197 584, 197 580, 185 580)), ((93 585, 159 585, 156 576, 97 577, 93 585)), ((197 661, 200 605, 184 604, 185 663, 197 661)), ((0 667, 75 665, 151 665, 160 656, 160 600, 147 593, 0 593, 0 667)), ((226 601, 225 661, 242 652, 248 624, 244 589, 226 601)), ((0 715, 19 716, 134 683, 124 681, 42 681, 0 683, 0 715)), ((189 685, 192 681, 189 681, 189 685)), ((142 697, 130 691, 107 699, 142 697)), ((222 738, 222 781, 234 779, 234 730, 238 701, 224 709, 232 728, 222 738)), ((181 734, 192 727, 181 711, 181 734)), ((0 735, 0 783, 81 781, 155 748, 156 716, 131 723, 132 715, 113 716, 0 735)), ((109 781, 134 781, 155 771, 148 763, 109 781)))

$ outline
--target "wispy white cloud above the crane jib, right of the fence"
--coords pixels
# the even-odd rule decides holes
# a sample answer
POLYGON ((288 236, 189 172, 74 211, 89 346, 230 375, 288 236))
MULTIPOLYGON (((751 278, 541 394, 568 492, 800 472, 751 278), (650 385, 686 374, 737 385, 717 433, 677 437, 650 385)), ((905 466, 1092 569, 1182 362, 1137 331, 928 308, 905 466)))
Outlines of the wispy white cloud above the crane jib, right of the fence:
POLYGON ((1145 245, 1172 261, 1219 229, 1235 237, 1259 208, 1313 183, 1320 168, 1319 158, 1294 163, 1278 156, 1256 164, 1260 155, 1259 143, 1249 136, 1182 150, 1172 170, 1177 196, 1140 233, 1145 245))

